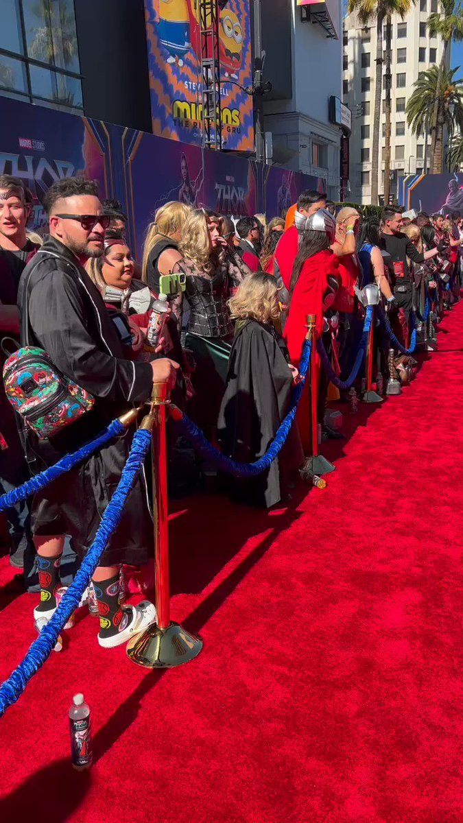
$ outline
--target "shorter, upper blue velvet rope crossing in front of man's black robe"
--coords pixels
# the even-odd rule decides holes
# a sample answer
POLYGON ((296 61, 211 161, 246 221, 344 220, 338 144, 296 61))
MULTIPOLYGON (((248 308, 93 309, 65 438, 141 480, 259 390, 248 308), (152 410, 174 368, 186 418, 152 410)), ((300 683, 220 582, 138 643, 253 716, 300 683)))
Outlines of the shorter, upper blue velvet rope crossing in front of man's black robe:
POLYGON ((65 457, 58 460, 58 463, 55 463, 54 466, 50 466, 45 469, 44 472, 40 472, 40 474, 35 475, 35 477, 31 477, 30 480, 23 483, 22 486, 18 486, 17 489, 7 491, 6 495, 2 495, 0 497, 0 512, 5 511, 5 509, 11 509, 12 506, 19 503, 20 500, 26 500, 26 497, 30 495, 37 494, 37 492, 44 489, 45 486, 49 486, 49 483, 77 466, 77 463, 82 463, 82 460, 89 458, 91 454, 101 449, 109 440, 119 435, 124 435, 125 431, 125 426, 122 425, 119 420, 114 420, 101 432, 101 435, 91 440, 90 443, 82 446, 82 449, 77 449, 77 452, 74 454, 66 454, 65 457))

